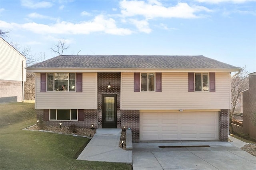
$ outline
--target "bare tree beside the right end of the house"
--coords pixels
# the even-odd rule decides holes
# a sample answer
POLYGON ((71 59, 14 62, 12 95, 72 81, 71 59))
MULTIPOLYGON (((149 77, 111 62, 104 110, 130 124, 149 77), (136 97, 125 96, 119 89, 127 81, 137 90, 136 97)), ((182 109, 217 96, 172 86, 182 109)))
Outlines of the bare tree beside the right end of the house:
POLYGON ((229 127, 230 133, 233 132, 232 117, 235 113, 237 106, 240 104, 240 93, 248 88, 248 71, 246 66, 242 67, 241 72, 231 78, 231 109, 229 113, 229 127))

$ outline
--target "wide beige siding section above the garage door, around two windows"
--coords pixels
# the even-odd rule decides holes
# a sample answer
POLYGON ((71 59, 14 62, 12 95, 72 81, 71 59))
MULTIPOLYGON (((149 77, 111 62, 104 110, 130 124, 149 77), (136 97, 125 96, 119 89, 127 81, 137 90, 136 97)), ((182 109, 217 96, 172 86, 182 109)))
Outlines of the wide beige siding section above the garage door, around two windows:
POLYGON ((229 109, 230 74, 215 77, 216 92, 188 92, 188 73, 162 73, 162 92, 134 92, 134 73, 122 73, 121 109, 229 109))

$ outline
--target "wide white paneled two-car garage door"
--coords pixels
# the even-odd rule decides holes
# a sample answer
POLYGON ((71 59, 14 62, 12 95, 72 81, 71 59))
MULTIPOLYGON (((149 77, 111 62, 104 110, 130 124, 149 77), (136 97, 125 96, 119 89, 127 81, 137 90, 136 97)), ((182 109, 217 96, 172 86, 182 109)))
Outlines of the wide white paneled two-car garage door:
POLYGON ((218 112, 141 112, 140 140, 218 140, 218 112))

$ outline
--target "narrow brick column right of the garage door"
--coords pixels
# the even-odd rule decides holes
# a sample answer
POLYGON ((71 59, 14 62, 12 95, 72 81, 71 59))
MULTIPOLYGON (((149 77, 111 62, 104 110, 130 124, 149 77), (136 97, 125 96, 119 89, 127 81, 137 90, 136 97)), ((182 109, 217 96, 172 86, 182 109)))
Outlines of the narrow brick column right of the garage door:
POLYGON ((229 109, 220 109, 220 141, 228 141, 229 109))

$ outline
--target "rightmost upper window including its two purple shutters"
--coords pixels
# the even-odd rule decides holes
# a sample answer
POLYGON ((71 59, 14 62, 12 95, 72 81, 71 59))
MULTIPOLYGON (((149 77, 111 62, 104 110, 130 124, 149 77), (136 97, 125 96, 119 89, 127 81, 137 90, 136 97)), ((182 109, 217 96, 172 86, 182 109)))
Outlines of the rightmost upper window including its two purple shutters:
POLYGON ((188 73, 188 92, 215 91, 215 73, 188 73))

